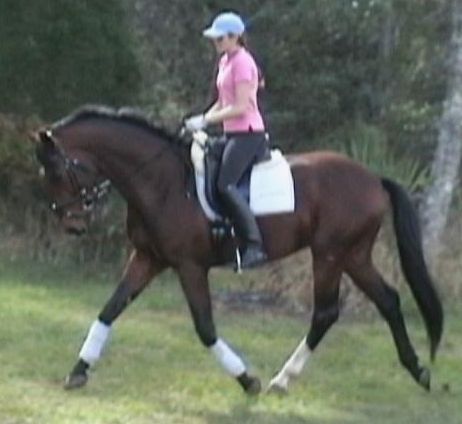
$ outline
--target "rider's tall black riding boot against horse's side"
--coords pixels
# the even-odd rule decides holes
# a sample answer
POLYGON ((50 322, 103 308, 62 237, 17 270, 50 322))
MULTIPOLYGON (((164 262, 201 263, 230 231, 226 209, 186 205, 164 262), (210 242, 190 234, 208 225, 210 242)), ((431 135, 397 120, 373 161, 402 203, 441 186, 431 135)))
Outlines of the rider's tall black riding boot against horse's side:
POLYGON ((260 230, 249 205, 233 185, 226 187, 222 196, 237 235, 246 244, 241 261, 242 268, 253 268, 262 264, 268 257, 263 250, 260 230))

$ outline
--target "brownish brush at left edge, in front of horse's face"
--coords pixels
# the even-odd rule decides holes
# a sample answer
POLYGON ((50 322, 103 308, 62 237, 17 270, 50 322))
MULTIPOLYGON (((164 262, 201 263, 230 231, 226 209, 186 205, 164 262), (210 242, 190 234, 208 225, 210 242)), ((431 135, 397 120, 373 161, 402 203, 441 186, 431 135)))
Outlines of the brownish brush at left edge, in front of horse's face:
POLYGON ((38 122, 0 115, 2 253, 85 266, 125 259, 125 204, 117 195, 100 205, 88 235, 72 239, 62 234, 48 208, 34 146, 28 141, 28 132, 38 122))

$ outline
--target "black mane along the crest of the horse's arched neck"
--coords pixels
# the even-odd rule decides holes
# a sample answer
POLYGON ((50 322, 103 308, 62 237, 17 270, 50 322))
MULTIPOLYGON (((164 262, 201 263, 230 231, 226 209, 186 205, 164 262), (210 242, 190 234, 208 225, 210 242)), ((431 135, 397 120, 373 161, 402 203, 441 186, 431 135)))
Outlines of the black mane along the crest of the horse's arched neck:
POLYGON ((178 142, 177 135, 164 127, 155 125, 144 112, 128 107, 114 109, 102 105, 85 105, 58 122, 55 122, 51 129, 56 130, 87 119, 109 119, 117 122, 125 122, 150 131, 157 137, 167 139, 172 143, 178 142))

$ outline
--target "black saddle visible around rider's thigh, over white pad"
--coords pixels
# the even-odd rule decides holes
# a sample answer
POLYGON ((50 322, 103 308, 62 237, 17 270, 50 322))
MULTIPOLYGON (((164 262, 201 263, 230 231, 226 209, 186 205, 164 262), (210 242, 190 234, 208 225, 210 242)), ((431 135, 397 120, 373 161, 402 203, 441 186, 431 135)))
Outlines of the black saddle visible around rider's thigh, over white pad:
MULTIPOLYGON (((225 221, 226 211, 220 201, 220 195, 217 189, 218 175, 220 172, 221 158, 226 145, 226 136, 209 137, 204 146, 204 176, 205 176, 205 196, 212 209, 225 221)), ((256 163, 264 162, 271 159, 271 151, 267 148, 261 159, 256 163)), ((250 199, 250 175, 252 166, 245 172, 238 183, 238 190, 243 197, 249 202, 250 199)))

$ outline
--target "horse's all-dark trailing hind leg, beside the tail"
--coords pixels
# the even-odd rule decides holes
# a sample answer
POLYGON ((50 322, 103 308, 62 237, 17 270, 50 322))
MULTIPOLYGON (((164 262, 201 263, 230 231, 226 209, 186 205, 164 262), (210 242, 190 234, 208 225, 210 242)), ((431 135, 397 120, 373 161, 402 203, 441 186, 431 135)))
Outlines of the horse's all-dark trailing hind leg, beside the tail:
POLYGON ((425 389, 430 389, 430 373, 419 366, 417 355, 412 347, 401 313, 399 295, 385 283, 372 264, 370 252, 364 260, 355 257, 349 262, 346 271, 353 282, 375 303, 380 314, 387 321, 393 334, 401 364, 425 389))

